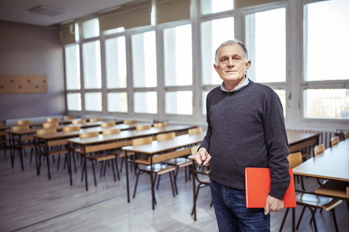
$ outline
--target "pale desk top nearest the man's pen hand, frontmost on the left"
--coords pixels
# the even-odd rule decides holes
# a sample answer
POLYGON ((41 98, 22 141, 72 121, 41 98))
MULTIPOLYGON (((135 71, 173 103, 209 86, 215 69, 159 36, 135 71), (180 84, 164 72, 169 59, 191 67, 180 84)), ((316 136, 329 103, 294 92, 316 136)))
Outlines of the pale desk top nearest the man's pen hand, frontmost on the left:
POLYGON ((139 145, 135 147, 124 146, 122 147, 122 150, 139 152, 143 154, 156 154, 162 151, 168 151, 171 149, 176 149, 179 147, 200 143, 202 139, 205 137, 205 135, 206 135, 206 131, 199 134, 194 134, 194 135, 189 135, 189 134, 179 135, 173 139, 166 139, 160 142, 154 140, 151 144, 144 144, 144 145, 139 145))

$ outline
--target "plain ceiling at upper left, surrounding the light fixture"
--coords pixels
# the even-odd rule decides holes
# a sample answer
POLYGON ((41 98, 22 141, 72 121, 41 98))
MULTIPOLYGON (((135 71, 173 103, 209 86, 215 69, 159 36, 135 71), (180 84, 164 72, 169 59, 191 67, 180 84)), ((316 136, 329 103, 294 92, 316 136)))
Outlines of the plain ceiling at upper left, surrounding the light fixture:
POLYGON ((43 27, 59 27, 77 18, 118 8, 134 0, 0 0, 0 21, 43 27), (40 5, 65 9, 64 13, 50 16, 32 13, 29 9, 40 5))

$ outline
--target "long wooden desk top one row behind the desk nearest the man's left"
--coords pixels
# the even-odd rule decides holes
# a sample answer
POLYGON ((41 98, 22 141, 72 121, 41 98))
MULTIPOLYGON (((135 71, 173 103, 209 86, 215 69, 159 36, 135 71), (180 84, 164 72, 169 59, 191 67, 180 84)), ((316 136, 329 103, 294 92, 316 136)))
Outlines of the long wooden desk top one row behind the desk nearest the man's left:
MULTIPOLYGON (((161 128, 152 127, 148 130, 140 130, 140 131, 124 130, 124 131, 120 131, 120 133, 118 134, 113 134, 113 135, 106 135, 106 136, 99 135, 98 137, 96 136, 96 137, 83 138, 83 139, 70 138, 70 139, 67 139, 67 141, 70 143, 75 143, 80 145, 88 145, 88 144, 94 144, 94 143, 109 142, 109 141, 114 141, 119 139, 131 139, 131 138, 147 136, 147 135, 151 136, 151 135, 169 133, 169 132, 178 131, 178 130, 187 130, 193 127, 194 126, 169 125, 167 127, 161 127, 161 128)), ((113 128, 114 127, 109 127, 104 129, 113 129, 113 128)))

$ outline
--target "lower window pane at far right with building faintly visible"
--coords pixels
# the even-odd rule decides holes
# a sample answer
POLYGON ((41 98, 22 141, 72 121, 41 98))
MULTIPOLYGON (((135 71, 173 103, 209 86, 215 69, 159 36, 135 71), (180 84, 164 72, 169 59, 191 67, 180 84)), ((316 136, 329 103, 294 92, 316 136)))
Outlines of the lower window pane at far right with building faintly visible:
POLYGON ((304 118, 349 119, 349 89, 306 89, 304 118))

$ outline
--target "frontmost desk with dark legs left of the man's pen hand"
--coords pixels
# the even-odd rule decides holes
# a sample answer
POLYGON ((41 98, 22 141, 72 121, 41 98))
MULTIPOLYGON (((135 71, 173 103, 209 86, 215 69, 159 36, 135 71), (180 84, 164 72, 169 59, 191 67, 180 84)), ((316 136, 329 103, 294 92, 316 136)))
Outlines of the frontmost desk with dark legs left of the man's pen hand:
MULTIPOLYGON (((125 159, 126 159, 126 182, 127 182, 127 202, 130 202, 129 197, 129 180, 128 180, 128 170, 127 170, 127 152, 135 152, 147 154, 148 156, 158 154, 160 152, 170 151, 173 149, 178 149, 181 147, 192 146, 193 144, 198 144, 202 141, 203 137, 205 137, 206 131, 194 134, 194 135, 179 135, 173 139, 166 139, 163 141, 153 141, 151 144, 144 144, 139 146, 125 146, 122 147, 122 150, 125 151, 125 159)), ((153 169, 151 169, 152 171, 153 169)), ((150 173, 150 176, 153 176, 153 173, 150 173)), ((154 201, 155 201, 155 193, 154 193, 154 180, 151 178, 151 201, 153 205, 153 210, 155 209, 154 201)))

